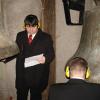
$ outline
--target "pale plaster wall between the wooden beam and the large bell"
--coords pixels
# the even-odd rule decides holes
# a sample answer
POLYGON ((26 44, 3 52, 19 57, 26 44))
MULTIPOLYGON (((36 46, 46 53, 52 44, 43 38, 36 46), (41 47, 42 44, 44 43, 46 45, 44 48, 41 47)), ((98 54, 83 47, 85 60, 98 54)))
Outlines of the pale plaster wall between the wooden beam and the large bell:
MULTIPOLYGON (((94 6, 93 0, 86 0, 86 10, 94 6)), ((76 19, 77 15, 73 15, 76 19)), ((82 33, 82 26, 67 26, 62 0, 56 0, 56 82, 66 81, 64 67, 75 54, 82 33)))

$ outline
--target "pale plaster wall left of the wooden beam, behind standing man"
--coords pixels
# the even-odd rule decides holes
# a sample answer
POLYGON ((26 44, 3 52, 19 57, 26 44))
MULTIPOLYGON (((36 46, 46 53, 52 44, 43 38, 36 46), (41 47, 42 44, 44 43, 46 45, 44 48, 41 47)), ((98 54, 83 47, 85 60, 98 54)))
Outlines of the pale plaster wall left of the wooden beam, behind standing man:
MULTIPOLYGON (((11 41, 15 41, 17 32, 23 30, 26 15, 32 13, 41 18, 41 0, 0 0, 0 5, 3 9, 4 35, 11 41)), ((10 100, 10 96, 16 100, 15 60, 7 64, 0 62, 0 100, 10 100)))

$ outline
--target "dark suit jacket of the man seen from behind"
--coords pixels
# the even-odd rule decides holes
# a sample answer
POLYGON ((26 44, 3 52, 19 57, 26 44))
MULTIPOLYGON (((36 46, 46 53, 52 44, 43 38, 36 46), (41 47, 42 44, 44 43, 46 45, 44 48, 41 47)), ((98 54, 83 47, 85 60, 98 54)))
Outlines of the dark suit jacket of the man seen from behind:
POLYGON ((70 79, 67 83, 52 85, 49 100, 100 100, 100 84, 70 79))

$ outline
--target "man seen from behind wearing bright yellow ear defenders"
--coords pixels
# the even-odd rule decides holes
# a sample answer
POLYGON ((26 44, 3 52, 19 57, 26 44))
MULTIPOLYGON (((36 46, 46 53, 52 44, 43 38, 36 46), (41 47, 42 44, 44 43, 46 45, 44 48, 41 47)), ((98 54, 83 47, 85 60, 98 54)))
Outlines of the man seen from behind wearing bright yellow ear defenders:
POLYGON ((49 100, 100 100, 100 84, 86 81, 90 77, 90 69, 84 58, 70 59, 65 69, 69 80, 51 85, 49 100))

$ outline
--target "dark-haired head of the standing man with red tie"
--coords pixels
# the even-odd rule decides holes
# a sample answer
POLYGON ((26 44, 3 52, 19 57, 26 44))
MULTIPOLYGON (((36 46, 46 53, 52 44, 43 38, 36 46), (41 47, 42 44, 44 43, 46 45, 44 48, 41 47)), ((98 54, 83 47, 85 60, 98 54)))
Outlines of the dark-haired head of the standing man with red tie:
POLYGON ((37 33, 39 28, 39 21, 37 16, 32 14, 26 16, 24 19, 24 26, 29 34, 37 33))

